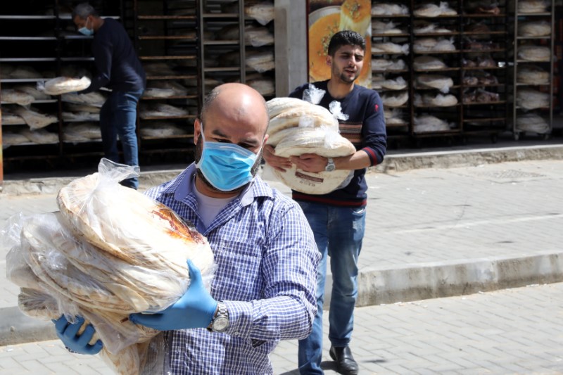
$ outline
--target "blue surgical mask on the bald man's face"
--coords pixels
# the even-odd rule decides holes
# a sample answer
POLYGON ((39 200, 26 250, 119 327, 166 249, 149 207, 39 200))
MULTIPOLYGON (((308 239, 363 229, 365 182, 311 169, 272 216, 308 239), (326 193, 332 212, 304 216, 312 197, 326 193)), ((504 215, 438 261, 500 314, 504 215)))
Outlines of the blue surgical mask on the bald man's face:
POLYGON ((258 154, 236 144, 205 142, 203 132, 201 141, 203 147, 196 167, 216 189, 233 191, 253 180, 252 167, 258 154))

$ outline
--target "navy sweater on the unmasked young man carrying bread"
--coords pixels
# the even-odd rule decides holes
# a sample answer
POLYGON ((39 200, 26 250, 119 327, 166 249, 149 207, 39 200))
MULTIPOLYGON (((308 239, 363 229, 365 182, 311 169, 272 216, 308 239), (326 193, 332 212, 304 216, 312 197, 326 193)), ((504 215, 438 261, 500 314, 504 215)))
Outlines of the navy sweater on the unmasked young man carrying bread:
MULTIPOLYGON (((354 89, 344 98, 335 99, 329 94, 329 81, 315 82, 318 89, 325 92, 319 105, 329 109, 332 101, 341 103, 342 113, 348 115, 348 120, 339 120, 341 136, 348 139, 356 150, 362 150, 372 161, 372 165, 381 163, 387 149, 387 133, 383 103, 377 91, 354 85, 354 89)), ((289 94, 293 98, 303 99, 303 91, 309 84, 302 84, 289 94)), ((367 203, 367 183, 365 181, 366 168, 355 170, 350 183, 342 189, 327 194, 314 195, 292 191, 296 201, 311 201, 328 205, 360 207, 367 203)))

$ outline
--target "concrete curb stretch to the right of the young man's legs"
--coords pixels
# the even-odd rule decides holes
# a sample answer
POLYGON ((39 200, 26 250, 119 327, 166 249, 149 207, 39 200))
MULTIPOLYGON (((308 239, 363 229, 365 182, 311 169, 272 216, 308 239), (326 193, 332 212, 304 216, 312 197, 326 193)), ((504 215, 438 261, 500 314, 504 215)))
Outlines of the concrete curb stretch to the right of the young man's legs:
POLYGON ((370 268, 362 270, 358 277, 360 291, 357 306, 453 297, 563 281, 563 250, 520 258, 481 258, 419 263, 393 269, 370 268))

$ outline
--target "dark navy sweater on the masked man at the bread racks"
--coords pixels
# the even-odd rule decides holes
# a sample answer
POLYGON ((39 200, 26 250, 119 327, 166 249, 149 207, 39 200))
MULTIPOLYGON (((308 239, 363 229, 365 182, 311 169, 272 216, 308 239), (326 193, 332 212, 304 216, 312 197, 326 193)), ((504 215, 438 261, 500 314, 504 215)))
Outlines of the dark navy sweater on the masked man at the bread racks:
POLYGON ((94 35, 92 54, 96 75, 90 86, 80 91, 85 94, 107 87, 115 91, 145 89, 146 75, 123 25, 113 18, 104 18, 103 25, 94 35))

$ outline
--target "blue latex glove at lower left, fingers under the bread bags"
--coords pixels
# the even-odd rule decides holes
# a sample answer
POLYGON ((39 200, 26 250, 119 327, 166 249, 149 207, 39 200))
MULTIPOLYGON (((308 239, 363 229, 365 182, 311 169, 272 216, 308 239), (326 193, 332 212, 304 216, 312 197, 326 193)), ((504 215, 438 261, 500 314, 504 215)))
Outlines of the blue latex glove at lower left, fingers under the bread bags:
POLYGON ((65 346, 75 353, 80 354, 98 354, 103 347, 101 341, 96 341, 94 345, 90 345, 89 341, 96 333, 94 326, 88 324, 82 334, 78 335, 80 327, 84 323, 83 317, 76 317, 76 323, 69 323, 65 316, 61 316, 57 320, 53 320, 55 331, 58 338, 63 341, 65 346))

